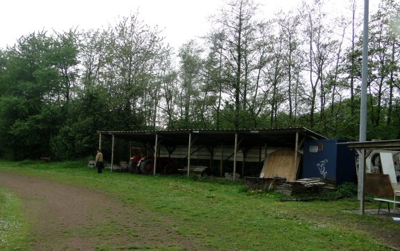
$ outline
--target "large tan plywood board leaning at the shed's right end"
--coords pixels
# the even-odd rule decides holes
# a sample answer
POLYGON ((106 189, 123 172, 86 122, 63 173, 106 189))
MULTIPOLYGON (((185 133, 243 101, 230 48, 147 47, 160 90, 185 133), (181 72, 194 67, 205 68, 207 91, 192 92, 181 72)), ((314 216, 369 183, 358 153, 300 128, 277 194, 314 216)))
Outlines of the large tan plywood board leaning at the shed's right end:
POLYGON ((260 177, 296 180, 301 154, 298 154, 296 164, 294 163, 294 154, 295 151, 292 149, 279 149, 266 156, 260 177))

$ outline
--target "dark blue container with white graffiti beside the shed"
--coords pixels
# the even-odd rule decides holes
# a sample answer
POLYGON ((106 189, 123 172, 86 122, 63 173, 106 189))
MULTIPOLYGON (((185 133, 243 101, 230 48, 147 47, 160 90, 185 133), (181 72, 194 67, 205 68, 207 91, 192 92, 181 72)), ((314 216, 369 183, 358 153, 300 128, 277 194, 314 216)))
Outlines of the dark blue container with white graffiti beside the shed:
POLYGON ((332 179, 336 184, 356 182, 355 151, 347 140, 305 140, 303 148, 303 178, 332 179))

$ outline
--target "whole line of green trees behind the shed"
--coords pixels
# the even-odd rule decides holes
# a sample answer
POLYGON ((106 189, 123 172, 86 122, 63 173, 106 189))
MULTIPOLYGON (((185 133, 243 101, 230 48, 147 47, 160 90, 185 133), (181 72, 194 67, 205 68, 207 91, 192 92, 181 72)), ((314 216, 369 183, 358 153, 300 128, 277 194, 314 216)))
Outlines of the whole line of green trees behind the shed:
MULTIPOLYGON (((262 18, 227 0, 175 52, 139 13, 105 29, 22 35, 0 49, 0 156, 88 156, 97 130, 307 127, 358 139, 362 6, 321 0, 262 18)), ((367 138, 400 138, 400 3, 369 17, 367 138)), ((193 27, 194 29, 194 27, 193 27)))

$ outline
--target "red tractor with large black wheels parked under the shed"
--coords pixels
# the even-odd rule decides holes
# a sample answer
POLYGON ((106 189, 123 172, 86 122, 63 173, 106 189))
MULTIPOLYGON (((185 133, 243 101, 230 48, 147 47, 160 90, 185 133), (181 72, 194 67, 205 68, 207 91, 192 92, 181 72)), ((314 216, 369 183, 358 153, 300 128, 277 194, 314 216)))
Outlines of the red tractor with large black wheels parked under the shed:
MULTIPOLYGON (((170 175, 178 171, 177 165, 166 157, 157 158, 157 173, 170 175)), ((129 159, 128 170, 129 172, 143 173, 145 175, 152 175, 154 173, 154 158, 145 156, 141 147, 131 148, 131 158, 129 159)))

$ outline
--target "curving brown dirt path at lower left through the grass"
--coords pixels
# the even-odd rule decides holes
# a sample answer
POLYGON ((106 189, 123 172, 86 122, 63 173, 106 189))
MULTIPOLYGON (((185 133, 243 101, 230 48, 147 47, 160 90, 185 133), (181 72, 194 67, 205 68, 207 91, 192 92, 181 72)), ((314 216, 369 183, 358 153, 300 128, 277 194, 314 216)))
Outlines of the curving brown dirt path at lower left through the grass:
POLYGON ((3 172, 0 185, 22 198, 33 224, 31 250, 205 250, 168 219, 97 191, 3 172))

